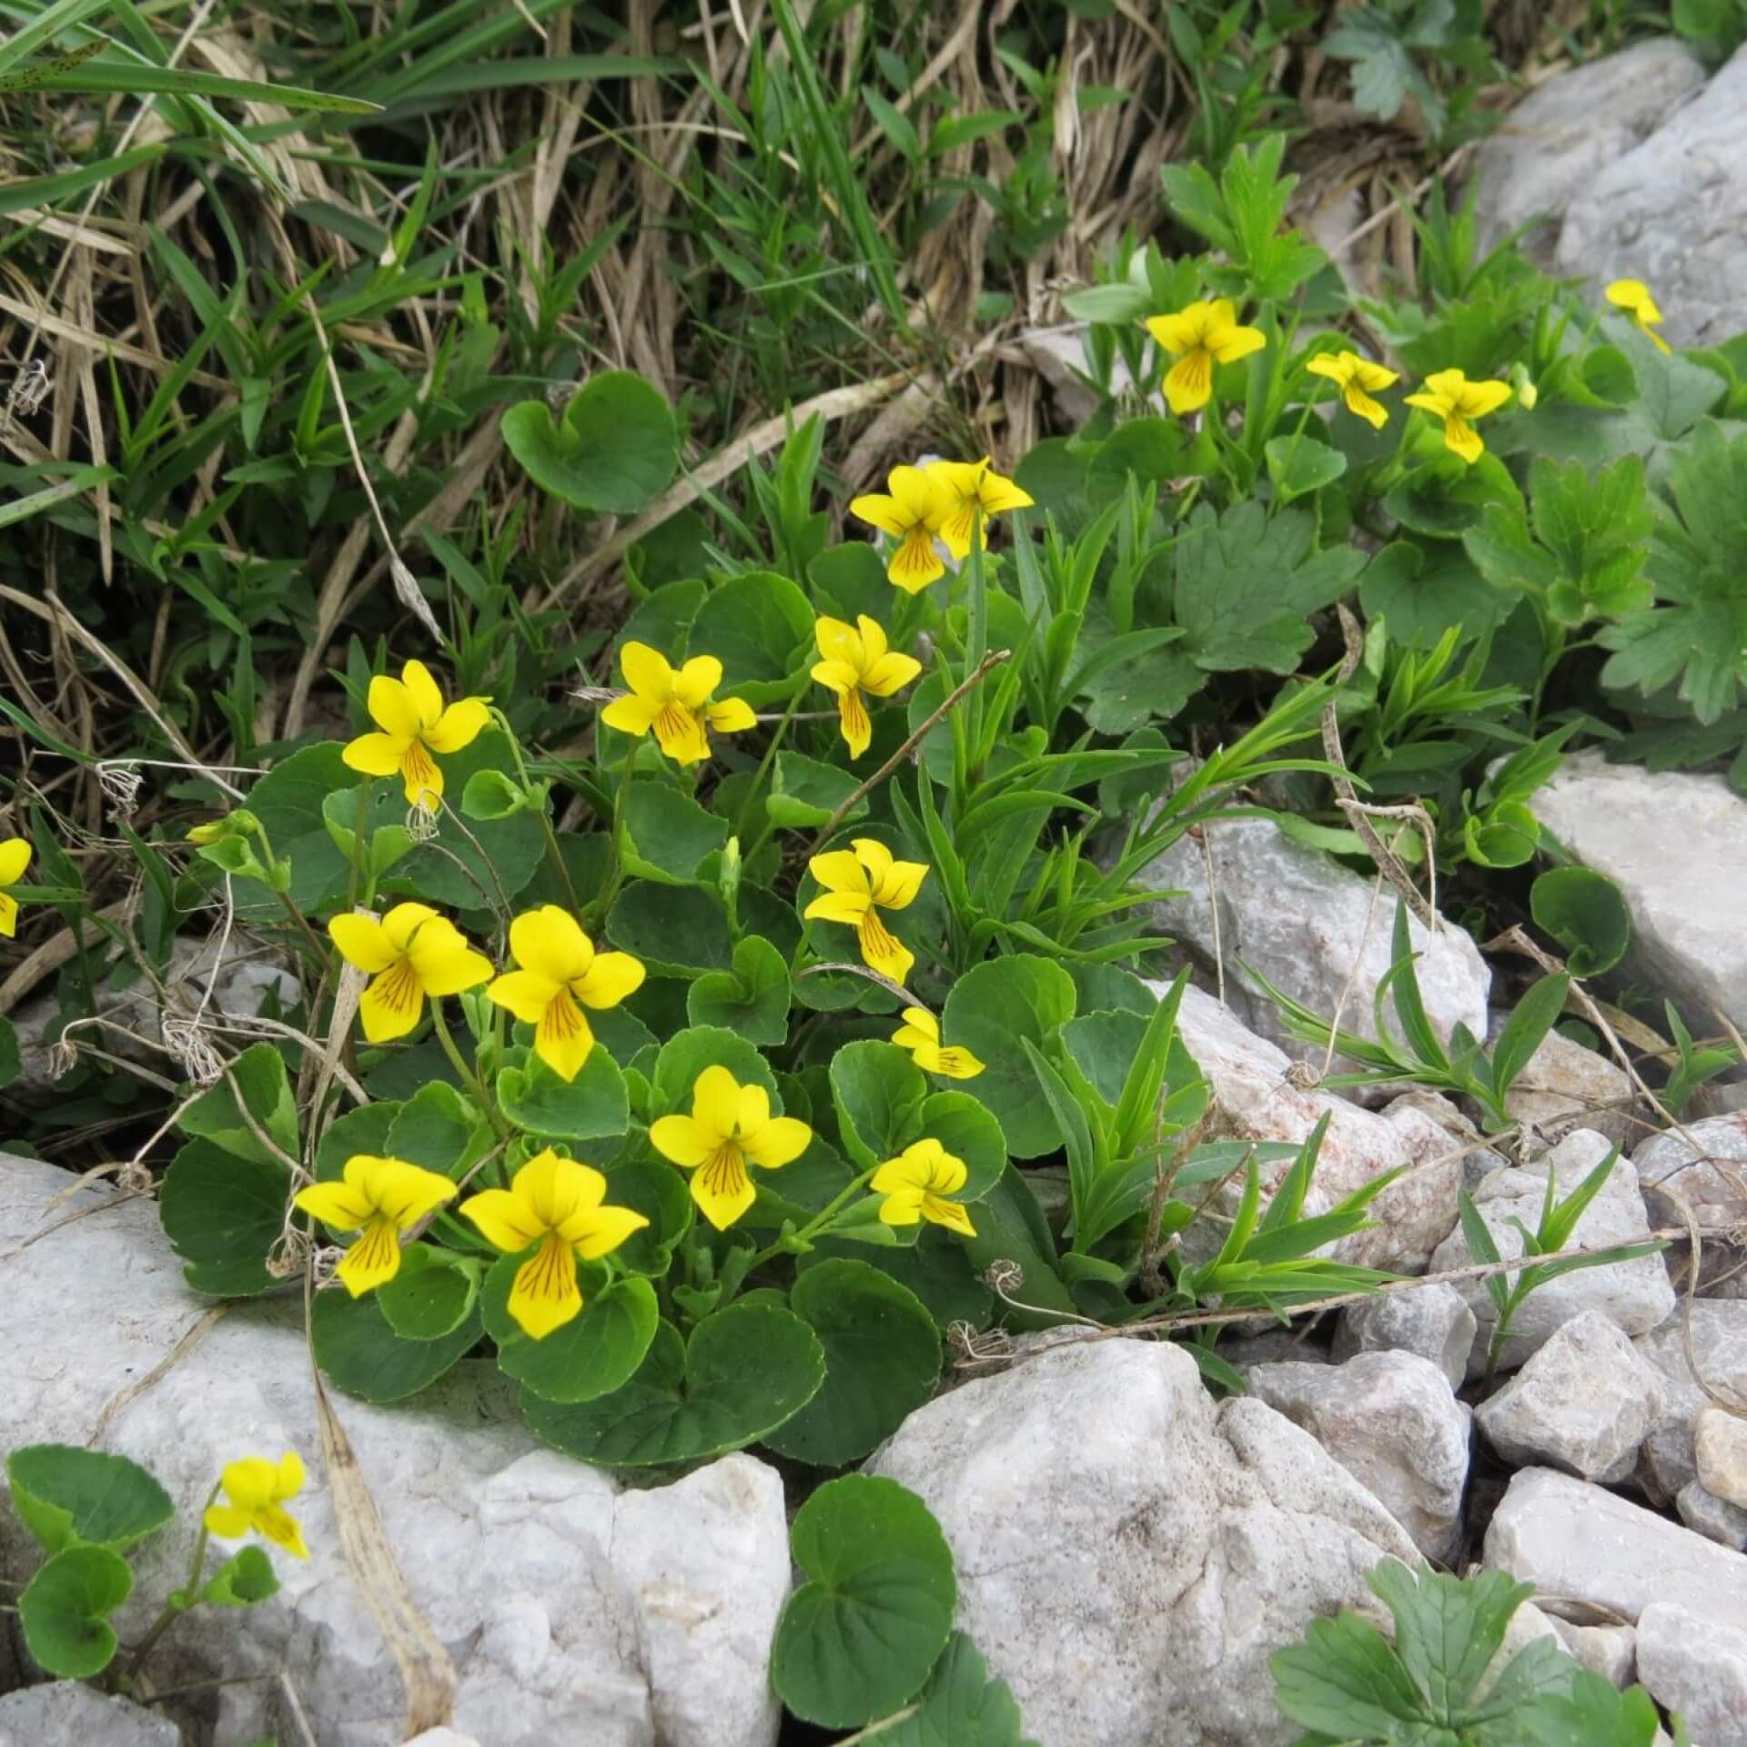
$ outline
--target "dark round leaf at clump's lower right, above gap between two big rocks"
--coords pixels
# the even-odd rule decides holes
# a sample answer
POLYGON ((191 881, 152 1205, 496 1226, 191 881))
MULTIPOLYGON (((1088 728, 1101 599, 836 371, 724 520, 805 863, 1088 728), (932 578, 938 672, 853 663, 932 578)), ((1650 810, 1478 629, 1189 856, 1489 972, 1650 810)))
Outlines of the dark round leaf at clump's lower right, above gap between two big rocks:
POLYGON ((935 1392, 935 1319, 912 1291, 865 1261, 807 1268, 788 1302, 825 1347, 825 1387, 765 1443, 814 1467, 860 1462, 935 1392))

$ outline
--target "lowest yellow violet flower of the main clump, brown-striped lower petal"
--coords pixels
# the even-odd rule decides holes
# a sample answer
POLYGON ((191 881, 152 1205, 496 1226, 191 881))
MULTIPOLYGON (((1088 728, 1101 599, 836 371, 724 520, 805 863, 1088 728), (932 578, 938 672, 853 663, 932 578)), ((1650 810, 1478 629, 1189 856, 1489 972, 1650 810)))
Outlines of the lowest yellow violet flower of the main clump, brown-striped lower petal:
POLYGON ((578 1258, 596 1261, 648 1225, 643 1214, 604 1202, 606 1177, 594 1165, 559 1158, 550 1146, 529 1158, 507 1190, 461 1202, 486 1242, 507 1256, 540 1246, 515 1270, 508 1303, 531 1340, 545 1340, 582 1312, 578 1258))

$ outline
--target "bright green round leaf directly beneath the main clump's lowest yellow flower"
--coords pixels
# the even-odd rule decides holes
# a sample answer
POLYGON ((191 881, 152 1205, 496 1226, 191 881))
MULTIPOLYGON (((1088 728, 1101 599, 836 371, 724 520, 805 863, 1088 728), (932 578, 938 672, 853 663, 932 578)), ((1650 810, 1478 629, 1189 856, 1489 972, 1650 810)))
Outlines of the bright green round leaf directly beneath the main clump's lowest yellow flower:
POLYGON ((486 1333, 498 1364, 543 1401, 594 1401, 625 1384, 655 1338, 660 1309, 641 1277, 608 1282, 599 1263, 580 1263, 582 1314, 543 1340, 524 1335, 510 1315, 510 1288, 533 1251, 503 1256, 486 1275, 486 1333))

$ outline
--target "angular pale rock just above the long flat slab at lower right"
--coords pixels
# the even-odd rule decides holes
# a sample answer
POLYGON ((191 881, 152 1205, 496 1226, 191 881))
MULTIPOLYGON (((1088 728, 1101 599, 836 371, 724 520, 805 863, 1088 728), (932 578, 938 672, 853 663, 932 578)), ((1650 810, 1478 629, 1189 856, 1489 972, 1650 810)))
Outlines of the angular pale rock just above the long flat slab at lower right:
POLYGON ((1661 1401, 1661 1373, 1616 1322, 1586 1310, 1555 1329, 1474 1419, 1515 1467, 1564 1467, 1614 1483, 1637 1467, 1661 1401))

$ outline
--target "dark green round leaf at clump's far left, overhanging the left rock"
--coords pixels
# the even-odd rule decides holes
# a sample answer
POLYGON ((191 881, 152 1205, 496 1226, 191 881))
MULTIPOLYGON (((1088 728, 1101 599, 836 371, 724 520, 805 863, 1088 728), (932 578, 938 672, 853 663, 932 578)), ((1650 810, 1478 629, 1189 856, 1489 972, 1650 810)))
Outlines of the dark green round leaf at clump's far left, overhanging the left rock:
POLYGON ((213 1141, 189 1141, 157 1190, 169 1247, 183 1279, 213 1298, 252 1298, 280 1282, 267 1253, 285 1228, 292 1174, 274 1158, 241 1158, 213 1141))

